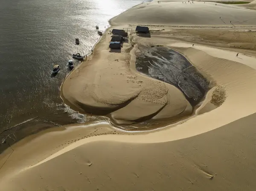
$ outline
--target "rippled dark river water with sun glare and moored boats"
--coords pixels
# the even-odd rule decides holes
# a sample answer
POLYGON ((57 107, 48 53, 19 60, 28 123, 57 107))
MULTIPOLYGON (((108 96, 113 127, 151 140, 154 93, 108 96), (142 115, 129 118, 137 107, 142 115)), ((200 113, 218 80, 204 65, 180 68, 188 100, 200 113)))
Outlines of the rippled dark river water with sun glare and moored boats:
POLYGON ((67 60, 90 52, 99 39, 96 25, 104 30, 109 19, 140 2, 0 0, 0 143, 86 120, 60 98, 61 83, 70 72, 67 60), (51 77, 55 64, 61 70, 51 77))

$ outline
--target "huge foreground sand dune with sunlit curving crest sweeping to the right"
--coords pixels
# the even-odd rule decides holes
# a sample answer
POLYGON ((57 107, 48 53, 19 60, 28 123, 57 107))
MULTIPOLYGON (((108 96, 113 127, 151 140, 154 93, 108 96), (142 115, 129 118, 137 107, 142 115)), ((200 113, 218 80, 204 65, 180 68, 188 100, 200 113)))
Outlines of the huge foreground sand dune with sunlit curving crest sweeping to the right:
MULTIPOLYGON (((138 39, 140 43, 144 40, 138 39)), ((244 61, 249 58, 236 57, 231 51, 223 53, 215 48, 198 45, 192 48, 186 43, 164 41, 215 79, 219 91, 226 94, 224 97, 215 94, 216 100, 223 99, 218 108, 172 128, 143 135, 86 138, 86 128, 76 128, 73 134, 72 131, 45 134, 21 148, 14 147, 14 153, 0 172, 2 188, 6 191, 20 188, 28 191, 39 188, 111 190, 126 185, 125 189, 130 190, 137 185, 136 188, 142 190, 161 190, 165 186, 231 191, 247 185, 248 190, 253 190, 256 70, 244 61), (225 54, 225 59, 217 57, 221 54, 225 54), (250 114, 253 115, 246 117, 250 114), (214 128, 217 129, 210 131, 214 128), (47 140, 52 140, 52 144, 45 144, 47 140), (66 146, 67 143, 71 144, 66 146), (40 149, 29 149, 35 145, 40 149), (56 145, 63 148, 54 151, 56 145), (24 151, 26 154, 20 154, 24 151)), ((218 104, 214 99, 208 101, 218 104)))

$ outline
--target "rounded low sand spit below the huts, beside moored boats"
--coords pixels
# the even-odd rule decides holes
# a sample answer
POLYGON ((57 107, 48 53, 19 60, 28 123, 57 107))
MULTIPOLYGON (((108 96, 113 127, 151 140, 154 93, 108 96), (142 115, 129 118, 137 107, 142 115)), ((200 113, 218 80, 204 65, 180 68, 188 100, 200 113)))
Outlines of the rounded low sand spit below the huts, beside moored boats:
POLYGON ((89 114, 111 114, 117 124, 132 124, 157 114, 158 119, 178 119, 192 113, 178 88, 131 71, 131 45, 125 43, 122 54, 109 52, 110 38, 106 34, 93 61, 82 64, 63 83, 63 98, 70 106, 89 114))

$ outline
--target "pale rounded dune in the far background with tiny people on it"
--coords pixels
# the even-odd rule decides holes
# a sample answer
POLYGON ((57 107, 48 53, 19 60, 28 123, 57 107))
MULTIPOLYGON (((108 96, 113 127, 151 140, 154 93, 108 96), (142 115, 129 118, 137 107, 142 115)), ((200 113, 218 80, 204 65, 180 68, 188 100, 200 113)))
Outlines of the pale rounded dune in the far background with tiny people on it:
POLYGON ((221 3, 153 2, 135 6, 111 21, 112 24, 126 22, 170 26, 254 26, 256 14, 253 10, 221 3))

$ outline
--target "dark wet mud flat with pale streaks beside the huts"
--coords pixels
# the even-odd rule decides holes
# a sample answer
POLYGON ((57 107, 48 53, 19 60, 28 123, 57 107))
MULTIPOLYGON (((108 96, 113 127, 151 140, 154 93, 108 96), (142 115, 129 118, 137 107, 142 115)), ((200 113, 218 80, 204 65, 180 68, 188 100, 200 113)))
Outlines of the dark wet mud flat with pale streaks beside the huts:
POLYGON ((139 46, 137 71, 179 88, 192 106, 197 105, 209 89, 209 81, 177 51, 166 47, 139 46))

